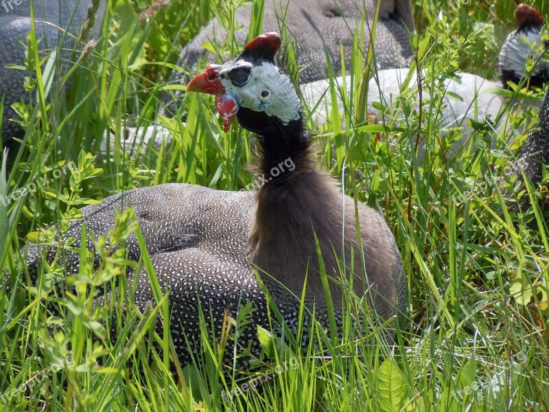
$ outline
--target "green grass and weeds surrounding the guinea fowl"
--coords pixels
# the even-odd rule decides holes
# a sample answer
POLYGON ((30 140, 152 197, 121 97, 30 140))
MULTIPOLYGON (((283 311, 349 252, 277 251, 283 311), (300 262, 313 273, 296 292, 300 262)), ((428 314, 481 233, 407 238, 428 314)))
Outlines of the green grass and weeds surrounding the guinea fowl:
MULTIPOLYGON (((480 128, 471 136, 474 145, 452 156, 451 146, 463 132, 443 135, 434 121, 441 78, 460 70, 494 77, 499 45, 513 27, 513 1, 414 4, 419 34, 411 41, 425 73, 423 90, 433 98, 418 113, 404 96, 398 107, 408 114, 404 126, 390 117, 379 133, 379 126, 360 123, 362 59, 344 68, 353 78, 343 117, 347 133, 336 121, 335 128, 319 130, 319 159, 358 201, 382 207, 408 275, 410 321, 394 346, 384 341, 383 328, 357 336, 350 320, 336 344, 329 331, 312 325, 309 333, 318 342, 301 351, 296 343, 303 330, 285 343, 263 332, 266 357, 253 376, 223 374, 218 347, 207 340, 203 367, 181 365, 178 375, 170 373, 167 328, 163 334, 152 329, 158 319, 167 325, 169 310, 146 253, 140 262, 128 262, 123 249, 111 254, 98 239, 99 268, 82 250, 78 276, 68 276, 59 262, 40 267, 37 279, 25 272, 19 251, 27 233, 36 238, 40 228, 43 242, 55 244, 50 225, 66 228, 91 199, 165 182, 240 190, 253 181, 244 168, 253 161, 249 134, 237 127, 222 133, 211 99, 185 95, 178 111, 187 113, 186 125, 178 116, 157 115, 160 87, 176 51, 214 12, 231 27, 231 3, 174 0, 149 19, 139 17, 148 2, 109 5, 97 45, 80 60, 88 39, 75 45, 78 63, 62 72, 70 76, 58 65, 41 66, 42 76, 54 80, 49 88, 28 85, 33 104, 22 109, 27 130, 22 148, 11 154, 9 165, 3 157, 0 195, 22 188, 27 193, 0 202, 0 267, 17 290, 0 292, 0 410, 549 409, 546 187, 533 187, 536 202, 521 212, 502 208, 495 192, 512 159, 505 142, 514 135, 514 150, 524 141, 537 125, 537 109, 523 106, 513 113, 501 135, 480 128), (175 130, 173 143, 126 155, 120 144, 124 127, 154 124, 175 130), (115 139, 106 155, 100 152, 105 130, 113 130, 115 139), (489 148, 487 139, 497 147, 489 148), (415 150, 419 142, 425 146, 423 161, 415 150), (147 269, 159 301, 143 314, 131 310, 132 299, 122 301, 124 291, 131 297, 135 290, 124 271, 136 265, 147 269), (65 293, 56 292, 56 281, 66 286, 65 293), (95 292, 106 286, 121 293, 97 308, 95 292), (118 321, 118 341, 97 341, 93 338, 105 336, 115 299, 129 306, 130 315, 118 321), (56 316, 47 308, 56 308, 56 316), (153 342, 164 350, 156 352, 153 342)), ((547 3, 536 5, 549 16, 547 3)), ((259 19, 260 14, 253 30, 259 19)), ((29 42, 27 70, 36 76, 43 55, 34 52, 33 36, 29 42)), ((123 244, 136 229, 130 219, 130 214, 117 218, 111 245, 123 244)), ((366 316, 351 295, 347 308, 366 316)), ((246 316, 242 308, 236 320, 246 316)), ((208 326, 202 329, 208 336, 208 326)))

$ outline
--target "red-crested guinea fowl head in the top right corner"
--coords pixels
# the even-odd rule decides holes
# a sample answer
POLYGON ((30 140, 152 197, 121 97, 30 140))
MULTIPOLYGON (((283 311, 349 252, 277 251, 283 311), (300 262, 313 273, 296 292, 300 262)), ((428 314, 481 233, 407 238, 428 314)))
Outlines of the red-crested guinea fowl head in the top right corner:
MULTIPOLYGON (((538 49, 541 43, 541 29, 544 27, 544 19, 534 8, 526 4, 517 5, 515 12, 517 29, 511 32, 502 45, 499 56, 501 79, 504 87, 511 81, 519 84, 525 75, 529 74, 529 84, 542 87, 549 81, 549 64, 542 59, 538 49), (539 60, 531 73, 527 72, 526 62, 530 57, 539 60)), ((548 43, 544 44, 547 49, 548 43)))

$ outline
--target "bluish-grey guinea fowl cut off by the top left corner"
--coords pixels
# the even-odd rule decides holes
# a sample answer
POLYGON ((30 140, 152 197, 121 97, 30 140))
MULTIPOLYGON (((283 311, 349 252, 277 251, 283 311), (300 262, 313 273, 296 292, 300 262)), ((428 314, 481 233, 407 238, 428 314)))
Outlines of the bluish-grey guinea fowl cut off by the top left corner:
MULTIPOLYGON (((65 49, 63 56, 69 55, 73 47, 74 38, 65 34, 78 34, 86 19, 86 12, 91 0, 35 0, 34 16, 36 19, 36 38, 40 39, 40 51, 49 54, 51 50, 61 45, 65 49), (61 28, 61 29, 60 29, 61 28)), ((97 20, 102 21, 104 14, 104 0, 100 2, 97 20)), ((29 102, 29 93, 23 89, 27 71, 10 69, 8 65, 24 65, 25 47, 18 40, 27 38, 31 30, 30 1, 5 1, 0 5, 0 98, 3 96, 4 108, 2 117, 2 144, 9 146, 13 137, 21 137, 21 125, 10 121, 18 119, 12 104, 23 100, 29 102)))

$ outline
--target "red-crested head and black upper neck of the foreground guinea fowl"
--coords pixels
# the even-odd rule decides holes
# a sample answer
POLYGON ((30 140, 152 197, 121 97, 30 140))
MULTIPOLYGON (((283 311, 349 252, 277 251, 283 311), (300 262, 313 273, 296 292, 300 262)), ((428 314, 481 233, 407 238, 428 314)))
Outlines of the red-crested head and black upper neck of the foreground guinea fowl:
POLYGON ((280 45, 279 34, 262 34, 240 56, 223 65, 209 65, 187 84, 187 91, 215 95, 225 131, 237 117, 243 128, 258 135, 264 170, 299 157, 310 146, 296 88, 274 64, 280 45))

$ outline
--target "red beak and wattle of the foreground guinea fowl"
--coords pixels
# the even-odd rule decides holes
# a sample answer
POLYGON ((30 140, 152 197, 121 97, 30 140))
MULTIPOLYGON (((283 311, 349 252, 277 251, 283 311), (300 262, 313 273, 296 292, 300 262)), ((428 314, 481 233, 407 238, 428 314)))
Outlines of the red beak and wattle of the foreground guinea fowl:
POLYGON ((218 109, 223 122, 223 130, 228 132, 240 106, 238 106, 233 96, 226 93, 225 87, 218 78, 218 75, 218 69, 208 66, 206 71, 197 74, 191 79, 187 84, 187 91, 215 95, 215 108, 218 109))

